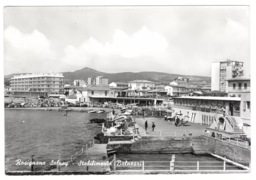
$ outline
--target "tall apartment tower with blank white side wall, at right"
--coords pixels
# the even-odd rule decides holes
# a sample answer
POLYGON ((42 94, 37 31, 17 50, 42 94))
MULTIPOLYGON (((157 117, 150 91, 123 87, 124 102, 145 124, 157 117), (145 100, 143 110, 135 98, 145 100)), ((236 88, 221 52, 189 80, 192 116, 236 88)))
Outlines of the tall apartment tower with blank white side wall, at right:
POLYGON ((226 80, 244 75, 243 62, 227 61, 212 63, 212 91, 226 92, 226 80))

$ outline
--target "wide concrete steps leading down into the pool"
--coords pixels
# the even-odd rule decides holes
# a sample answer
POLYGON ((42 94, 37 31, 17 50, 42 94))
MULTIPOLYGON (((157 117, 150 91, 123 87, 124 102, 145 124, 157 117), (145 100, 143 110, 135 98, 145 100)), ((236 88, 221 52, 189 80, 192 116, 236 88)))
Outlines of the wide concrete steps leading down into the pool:
POLYGON ((202 136, 192 137, 192 144, 193 152, 198 156, 209 155, 211 153, 202 136))

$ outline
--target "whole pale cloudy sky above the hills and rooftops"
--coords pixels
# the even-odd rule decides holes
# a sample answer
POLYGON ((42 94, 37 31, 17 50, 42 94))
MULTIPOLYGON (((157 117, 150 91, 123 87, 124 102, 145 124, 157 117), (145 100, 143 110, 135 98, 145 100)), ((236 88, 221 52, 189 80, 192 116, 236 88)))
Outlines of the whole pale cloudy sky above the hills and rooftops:
POLYGON ((4 75, 158 71, 211 76, 211 63, 244 62, 249 6, 4 8, 4 75))

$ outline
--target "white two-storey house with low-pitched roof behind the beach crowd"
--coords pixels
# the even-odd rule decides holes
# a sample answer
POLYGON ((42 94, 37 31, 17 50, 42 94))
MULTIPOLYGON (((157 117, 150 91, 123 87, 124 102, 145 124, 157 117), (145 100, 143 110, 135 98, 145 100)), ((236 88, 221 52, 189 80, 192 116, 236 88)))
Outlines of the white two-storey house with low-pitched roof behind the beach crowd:
POLYGON ((99 85, 92 85, 83 89, 76 89, 76 98, 79 102, 85 103, 106 103, 114 98, 114 91, 99 85))

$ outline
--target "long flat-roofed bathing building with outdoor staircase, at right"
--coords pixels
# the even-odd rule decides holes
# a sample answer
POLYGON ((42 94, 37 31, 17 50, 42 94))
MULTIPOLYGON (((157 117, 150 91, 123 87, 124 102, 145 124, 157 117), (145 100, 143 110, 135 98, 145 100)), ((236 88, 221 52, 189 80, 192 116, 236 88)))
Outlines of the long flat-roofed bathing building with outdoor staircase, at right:
MULTIPOLYGON (((230 133, 242 133, 240 123, 248 123, 242 118, 243 103, 240 97, 174 97, 174 114, 188 115, 187 121, 209 125, 211 129, 218 129, 230 133), (224 117, 222 107, 226 110, 224 117)), ((244 133, 250 134, 250 127, 244 128, 244 133)))

